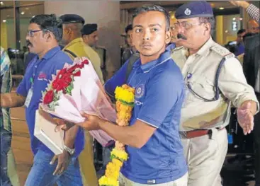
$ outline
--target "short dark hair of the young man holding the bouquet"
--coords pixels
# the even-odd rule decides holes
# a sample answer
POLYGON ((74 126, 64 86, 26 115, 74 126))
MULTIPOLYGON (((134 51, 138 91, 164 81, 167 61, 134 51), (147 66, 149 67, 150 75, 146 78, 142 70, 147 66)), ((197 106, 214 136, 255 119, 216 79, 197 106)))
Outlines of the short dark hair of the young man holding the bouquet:
POLYGON ((164 13, 165 16, 165 21, 166 21, 166 31, 169 31, 170 28, 170 15, 169 13, 162 8, 162 6, 157 6, 157 5, 144 5, 140 8, 136 8, 134 14, 132 15, 132 20, 138 16, 140 13, 145 13, 145 12, 149 12, 149 11, 159 11, 164 13))

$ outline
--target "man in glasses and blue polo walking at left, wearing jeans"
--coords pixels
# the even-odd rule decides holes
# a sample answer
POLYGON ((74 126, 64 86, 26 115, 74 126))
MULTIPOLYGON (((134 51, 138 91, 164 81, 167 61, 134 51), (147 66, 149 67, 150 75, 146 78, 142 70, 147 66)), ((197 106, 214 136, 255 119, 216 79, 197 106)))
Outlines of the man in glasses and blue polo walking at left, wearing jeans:
POLYGON ((42 91, 52 79, 52 74, 72 60, 60 50, 62 22, 55 15, 38 15, 32 18, 26 41, 30 52, 37 56, 28 64, 26 74, 16 93, 1 94, 1 107, 26 106, 26 122, 30 132, 31 149, 34 153, 33 167, 26 180, 26 186, 47 186, 57 182, 62 186, 82 185, 77 156, 84 147, 84 132, 75 128, 65 134, 67 148, 54 156, 44 144, 33 135, 35 111, 38 110, 42 91), (74 151, 74 153, 73 153, 74 151))

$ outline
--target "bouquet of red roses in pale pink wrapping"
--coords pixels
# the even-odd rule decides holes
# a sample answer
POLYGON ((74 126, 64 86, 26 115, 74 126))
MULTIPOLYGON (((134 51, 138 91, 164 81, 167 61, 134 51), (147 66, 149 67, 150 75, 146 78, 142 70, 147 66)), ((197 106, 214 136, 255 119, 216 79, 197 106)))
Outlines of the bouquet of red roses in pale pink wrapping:
MULTIPOLYGON (((81 111, 111 122, 116 120, 116 112, 106 99, 102 83, 86 58, 76 58, 72 65, 65 64, 56 76, 52 75, 40 107, 51 115, 74 123, 84 122, 81 111)), ((90 134, 103 146, 113 140, 101 130, 90 131, 90 134)))

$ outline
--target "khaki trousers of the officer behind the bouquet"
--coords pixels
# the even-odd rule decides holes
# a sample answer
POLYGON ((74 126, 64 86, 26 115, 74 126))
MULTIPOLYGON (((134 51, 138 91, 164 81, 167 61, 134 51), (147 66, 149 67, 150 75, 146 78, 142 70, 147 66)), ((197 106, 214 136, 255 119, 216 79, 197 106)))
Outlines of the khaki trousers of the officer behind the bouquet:
POLYGON ((98 178, 94 166, 93 137, 85 131, 84 150, 79 155, 79 167, 84 186, 97 186, 98 178))

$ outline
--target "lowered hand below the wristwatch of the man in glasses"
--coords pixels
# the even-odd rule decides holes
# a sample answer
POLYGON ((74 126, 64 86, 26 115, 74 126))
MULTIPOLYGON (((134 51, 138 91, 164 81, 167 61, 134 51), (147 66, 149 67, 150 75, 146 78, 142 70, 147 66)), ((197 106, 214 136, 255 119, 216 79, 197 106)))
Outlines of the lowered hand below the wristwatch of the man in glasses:
POLYGON ((67 170, 70 160, 71 158, 67 151, 63 151, 63 153, 55 155, 50 162, 50 165, 53 165, 55 161, 58 161, 53 175, 62 175, 62 173, 67 170))

